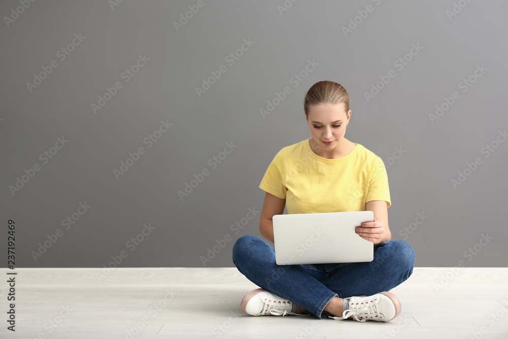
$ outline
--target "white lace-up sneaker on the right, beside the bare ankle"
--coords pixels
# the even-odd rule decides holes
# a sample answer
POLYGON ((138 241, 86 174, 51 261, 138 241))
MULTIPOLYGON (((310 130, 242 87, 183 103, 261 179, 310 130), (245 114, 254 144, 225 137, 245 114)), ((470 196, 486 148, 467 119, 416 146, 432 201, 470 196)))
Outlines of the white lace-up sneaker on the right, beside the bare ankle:
POLYGON ((401 306, 397 296, 391 292, 381 292, 371 296, 356 296, 348 299, 349 308, 344 311, 342 317, 330 317, 343 320, 349 317, 356 321, 367 320, 390 321, 400 314, 401 306))

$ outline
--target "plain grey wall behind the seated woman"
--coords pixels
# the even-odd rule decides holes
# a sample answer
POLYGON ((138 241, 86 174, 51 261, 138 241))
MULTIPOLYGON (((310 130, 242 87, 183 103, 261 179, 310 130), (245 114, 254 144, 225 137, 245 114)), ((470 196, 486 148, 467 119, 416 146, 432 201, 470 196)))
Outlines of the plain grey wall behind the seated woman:
POLYGON ((320 80, 351 96, 346 138, 385 161, 392 238, 414 247, 416 266, 506 265, 508 142, 499 133, 508 126, 508 3, 111 3, 0 5, 0 241, 5 249, 13 219, 16 266, 115 266, 122 254, 118 267, 203 267, 200 257, 224 238, 205 264, 233 266, 234 241, 261 236, 260 213, 242 218, 261 210, 258 185, 273 156, 311 137, 303 98, 320 80), (292 6, 281 11, 284 4, 292 6), (199 11, 177 30, 189 6, 199 11), (30 87, 44 69, 51 73, 30 87), (382 78, 390 81, 378 84, 382 78), (112 90, 115 83, 121 88, 112 90), (263 116, 286 86, 289 94, 263 116), (114 95, 94 112, 108 87, 114 95), (436 105, 452 102, 446 98, 453 104, 436 114, 436 105), (228 143, 233 150, 221 153, 228 143), (143 154, 117 178, 139 147, 143 154), (18 178, 25 182, 11 192, 18 178), (198 186, 181 199, 191 182, 198 186), (62 224, 68 217, 72 224, 62 224), (232 228, 236 222, 246 226, 232 228))

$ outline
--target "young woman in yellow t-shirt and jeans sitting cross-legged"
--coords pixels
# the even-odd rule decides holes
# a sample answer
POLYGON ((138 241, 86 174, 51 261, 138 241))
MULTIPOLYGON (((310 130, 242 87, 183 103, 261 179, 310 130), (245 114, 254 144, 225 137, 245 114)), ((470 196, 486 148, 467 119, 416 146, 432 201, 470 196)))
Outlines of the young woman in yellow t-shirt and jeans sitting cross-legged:
POLYGON ((282 148, 261 180, 266 191, 260 233, 274 243, 272 217, 288 213, 374 212, 357 228, 374 243, 372 262, 279 266, 273 247, 245 235, 233 247, 233 263, 261 287, 242 300, 252 316, 314 315, 337 320, 390 321, 400 314, 398 298, 386 292, 412 274, 415 252, 391 240, 391 205, 383 160, 344 138, 351 118, 349 96, 340 84, 319 81, 307 91, 304 111, 312 138, 282 148), (385 291, 385 292, 383 292, 385 291))

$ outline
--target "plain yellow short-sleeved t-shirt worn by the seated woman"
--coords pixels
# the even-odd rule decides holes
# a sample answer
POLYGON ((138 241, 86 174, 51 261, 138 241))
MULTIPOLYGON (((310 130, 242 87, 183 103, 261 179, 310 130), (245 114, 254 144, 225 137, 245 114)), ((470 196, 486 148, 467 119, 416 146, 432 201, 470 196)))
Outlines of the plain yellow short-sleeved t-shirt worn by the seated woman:
POLYGON ((309 139, 277 152, 260 189, 285 199, 289 214, 364 211, 365 203, 391 205, 383 160, 361 144, 338 159, 314 153, 309 139))

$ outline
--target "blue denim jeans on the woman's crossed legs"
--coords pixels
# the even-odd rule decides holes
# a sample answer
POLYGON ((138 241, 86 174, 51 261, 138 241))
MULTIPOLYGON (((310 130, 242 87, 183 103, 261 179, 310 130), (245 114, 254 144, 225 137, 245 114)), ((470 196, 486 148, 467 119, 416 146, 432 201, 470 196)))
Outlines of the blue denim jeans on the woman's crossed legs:
POLYGON ((407 280, 415 251, 403 240, 389 240, 374 248, 371 262, 279 266, 268 242, 245 235, 233 246, 233 263, 252 283, 323 319, 333 316, 324 311, 333 297, 373 295, 407 280))

